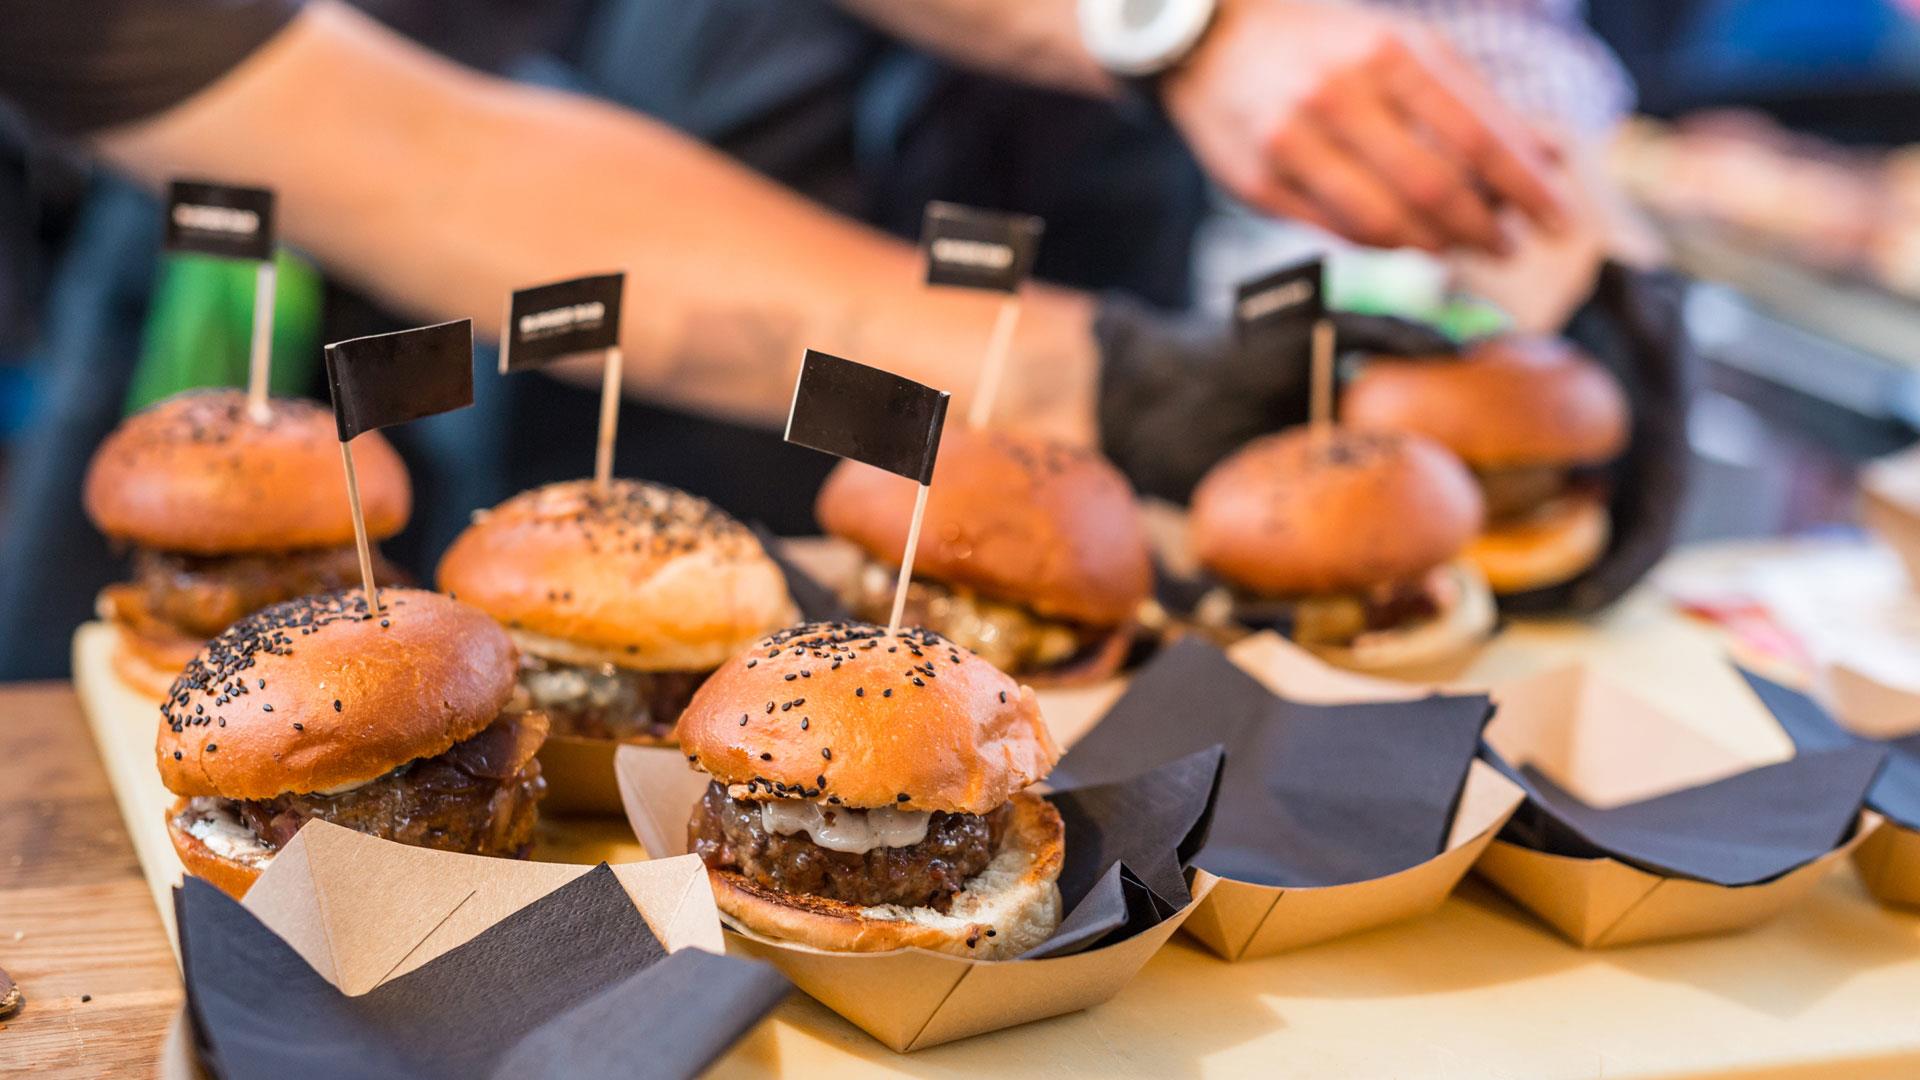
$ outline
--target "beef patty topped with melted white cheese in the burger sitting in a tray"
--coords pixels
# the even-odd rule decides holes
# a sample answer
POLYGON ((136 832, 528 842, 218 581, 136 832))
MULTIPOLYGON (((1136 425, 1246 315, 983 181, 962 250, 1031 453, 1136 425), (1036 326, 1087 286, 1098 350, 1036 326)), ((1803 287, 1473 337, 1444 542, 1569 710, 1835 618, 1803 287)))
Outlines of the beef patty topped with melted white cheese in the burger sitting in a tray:
POLYGON ((920 844, 831 851, 806 834, 768 832, 760 824, 760 803, 728 798, 714 782, 687 822, 687 840, 708 869, 737 871, 770 890, 862 907, 899 903, 947 911, 968 878, 993 861, 1008 815, 1004 805, 987 815, 935 811, 920 844))

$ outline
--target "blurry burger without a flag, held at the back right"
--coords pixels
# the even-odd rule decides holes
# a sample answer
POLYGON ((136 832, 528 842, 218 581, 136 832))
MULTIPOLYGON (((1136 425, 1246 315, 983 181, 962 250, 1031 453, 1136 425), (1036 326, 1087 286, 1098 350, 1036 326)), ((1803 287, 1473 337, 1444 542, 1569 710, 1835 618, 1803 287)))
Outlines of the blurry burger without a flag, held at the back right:
POLYGON ((1475 561, 1494 592, 1578 577, 1607 548, 1605 484, 1592 475, 1626 448, 1626 394, 1559 338, 1494 338, 1459 359, 1371 359, 1342 394, 1342 419, 1425 434, 1457 454, 1486 496, 1475 561))

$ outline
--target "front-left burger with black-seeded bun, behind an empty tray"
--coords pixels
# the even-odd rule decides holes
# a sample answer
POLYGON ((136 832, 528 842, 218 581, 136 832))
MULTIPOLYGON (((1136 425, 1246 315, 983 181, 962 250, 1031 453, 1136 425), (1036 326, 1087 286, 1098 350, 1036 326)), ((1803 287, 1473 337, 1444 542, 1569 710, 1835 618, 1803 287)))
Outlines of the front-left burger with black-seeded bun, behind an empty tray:
POLYGON ((300 826, 524 857, 545 794, 547 719, 513 707, 515 651, 472 607, 359 590, 228 626, 161 705, 159 778, 180 863, 242 896, 300 826))

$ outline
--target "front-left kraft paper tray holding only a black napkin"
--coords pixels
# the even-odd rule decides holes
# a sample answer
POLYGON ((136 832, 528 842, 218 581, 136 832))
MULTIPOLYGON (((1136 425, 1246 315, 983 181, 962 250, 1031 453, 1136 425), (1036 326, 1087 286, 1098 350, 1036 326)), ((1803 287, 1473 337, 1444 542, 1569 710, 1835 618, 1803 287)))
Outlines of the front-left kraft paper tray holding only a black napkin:
MULTIPOLYGON (((326 982, 359 995, 467 944, 589 869, 428 851, 311 821, 244 905, 326 982)), ((612 872, 662 947, 724 951, 699 859, 624 863, 612 872)), ((190 1042, 177 1019, 161 1055, 163 1078, 202 1074, 190 1042)))

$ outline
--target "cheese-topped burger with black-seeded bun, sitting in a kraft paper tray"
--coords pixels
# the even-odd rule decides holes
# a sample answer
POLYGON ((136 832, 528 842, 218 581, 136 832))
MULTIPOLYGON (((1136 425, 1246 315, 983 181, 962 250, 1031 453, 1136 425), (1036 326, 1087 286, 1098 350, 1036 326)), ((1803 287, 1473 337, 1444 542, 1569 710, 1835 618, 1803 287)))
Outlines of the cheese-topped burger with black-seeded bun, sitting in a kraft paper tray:
POLYGON ((1008 959, 1060 924, 1060 748, 1033 690, 933 630, 812 623, 730 659, 680 717, 712 784, 687 846, 762 938, 1008 959))

